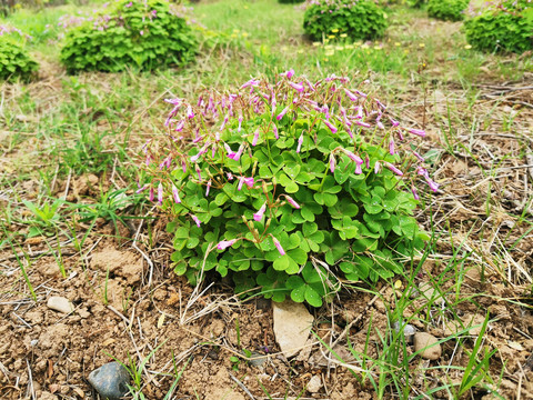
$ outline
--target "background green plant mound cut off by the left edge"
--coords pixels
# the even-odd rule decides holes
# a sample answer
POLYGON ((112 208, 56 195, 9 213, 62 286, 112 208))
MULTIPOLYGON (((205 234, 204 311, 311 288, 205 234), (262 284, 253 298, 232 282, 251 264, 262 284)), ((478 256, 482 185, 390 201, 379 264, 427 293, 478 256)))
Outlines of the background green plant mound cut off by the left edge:
POLYGON ((13 27, 0 26, 0 80, 29 80, 39 64, 26 49, 26 37, 13 27))

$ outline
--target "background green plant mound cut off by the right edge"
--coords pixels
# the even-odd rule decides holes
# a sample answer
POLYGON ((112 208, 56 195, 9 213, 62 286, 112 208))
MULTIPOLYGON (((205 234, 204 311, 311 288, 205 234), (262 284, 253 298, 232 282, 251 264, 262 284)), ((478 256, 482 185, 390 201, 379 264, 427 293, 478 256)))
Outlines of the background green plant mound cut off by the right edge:
POLYGON ((533 50, 533 3, 521 0, 489 6, 464 22, 464 32, 466 41, 477 50, 533 50))

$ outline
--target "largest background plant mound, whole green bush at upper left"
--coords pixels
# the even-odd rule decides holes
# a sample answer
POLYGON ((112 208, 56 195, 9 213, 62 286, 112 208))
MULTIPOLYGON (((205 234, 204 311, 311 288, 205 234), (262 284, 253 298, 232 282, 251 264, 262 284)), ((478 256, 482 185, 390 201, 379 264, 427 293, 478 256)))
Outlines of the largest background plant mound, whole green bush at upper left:
POLYGON ((192 30, 165 0, 119 0, 68 30, 61 61, 69 72, 152 70, 189 61, 192 30))

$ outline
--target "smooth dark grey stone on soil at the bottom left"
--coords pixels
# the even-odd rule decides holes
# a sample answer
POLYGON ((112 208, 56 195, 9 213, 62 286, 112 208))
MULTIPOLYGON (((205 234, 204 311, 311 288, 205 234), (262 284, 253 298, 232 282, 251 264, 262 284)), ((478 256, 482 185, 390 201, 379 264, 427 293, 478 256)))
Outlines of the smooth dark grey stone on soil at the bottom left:
POLYGON ((103 400, 118 400, 129 392, 130 373, 120 362, 103 364, 88 380, 103 400))

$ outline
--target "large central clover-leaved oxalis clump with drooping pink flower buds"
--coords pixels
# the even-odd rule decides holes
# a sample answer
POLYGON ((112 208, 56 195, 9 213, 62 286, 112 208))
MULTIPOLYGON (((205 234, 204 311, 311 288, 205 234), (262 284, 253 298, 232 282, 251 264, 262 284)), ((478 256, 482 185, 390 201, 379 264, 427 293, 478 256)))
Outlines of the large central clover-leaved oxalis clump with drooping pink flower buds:
POLYGON ((412 217, 416 188, 438 190, 416 152, 425 132, 348 78, 290 70, 167 102, 139 192, 171 216, 173 268, 190 282, 212 271, 237 292, 320 307, 344 282, 401 272, 429 239, 412 217))

